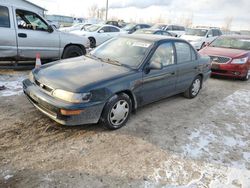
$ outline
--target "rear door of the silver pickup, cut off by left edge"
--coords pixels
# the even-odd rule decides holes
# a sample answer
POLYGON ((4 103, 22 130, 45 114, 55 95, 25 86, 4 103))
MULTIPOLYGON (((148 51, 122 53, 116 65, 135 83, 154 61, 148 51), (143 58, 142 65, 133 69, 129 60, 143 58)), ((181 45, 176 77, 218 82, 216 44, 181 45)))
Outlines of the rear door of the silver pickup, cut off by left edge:
POLYGON ((0 6, 0 60, 17 57, 16 31, 10 6, 0 6))

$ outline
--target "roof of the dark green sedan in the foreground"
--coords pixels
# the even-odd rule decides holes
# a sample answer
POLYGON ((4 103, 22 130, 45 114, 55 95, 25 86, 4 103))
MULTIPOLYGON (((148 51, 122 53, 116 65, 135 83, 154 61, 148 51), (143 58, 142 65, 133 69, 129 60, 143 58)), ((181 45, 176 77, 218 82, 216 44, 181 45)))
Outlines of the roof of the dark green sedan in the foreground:
POLYGON ((139 39, 139 40, 147 40, 150 42, 158 42, 161 40, 173 40, 173 41, 184 41, 183 39, 180 38, 173 38, 173 37, 168 37, 166 35, 152 35, 152 34, 126 34, 126 35, 122 35, 122 37, 126 37, 126 38, 132 38, 132 39, 139 39))

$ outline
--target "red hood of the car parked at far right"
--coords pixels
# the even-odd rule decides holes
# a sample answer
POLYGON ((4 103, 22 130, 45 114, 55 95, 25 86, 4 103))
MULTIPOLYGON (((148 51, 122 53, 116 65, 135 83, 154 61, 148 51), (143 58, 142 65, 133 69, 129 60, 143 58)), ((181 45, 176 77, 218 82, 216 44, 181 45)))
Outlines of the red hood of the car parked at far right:
POLYGON ((202 55, 210 55, 210 56, 226 56, 230 58, 236 58, 246 54, 248 51, 246 50, 238 50, 231 48, 217 48, 217 47, 205 47, 199 51, 202 55))

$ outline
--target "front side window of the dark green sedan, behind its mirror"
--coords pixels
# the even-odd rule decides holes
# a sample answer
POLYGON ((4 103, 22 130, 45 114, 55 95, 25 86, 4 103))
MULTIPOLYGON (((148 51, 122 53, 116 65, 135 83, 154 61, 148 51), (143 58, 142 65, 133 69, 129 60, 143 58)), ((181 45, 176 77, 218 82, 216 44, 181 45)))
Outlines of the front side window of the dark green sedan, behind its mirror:
POLYGON ((151 62, 162 63, 164 67, 173 65, 175 63, 173 44, 168 42, 158 46, 150 60, 151 62))

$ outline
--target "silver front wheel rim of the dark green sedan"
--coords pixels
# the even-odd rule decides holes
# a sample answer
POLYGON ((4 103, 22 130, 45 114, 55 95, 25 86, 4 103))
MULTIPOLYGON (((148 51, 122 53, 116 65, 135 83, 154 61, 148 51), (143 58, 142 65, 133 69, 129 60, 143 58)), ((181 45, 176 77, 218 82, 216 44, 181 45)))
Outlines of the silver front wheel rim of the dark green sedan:
POLYGON ((129 104, 125 100, 119 100, 111 109, 109 119, 114 126, 121 125, 128 117, 129 104))

